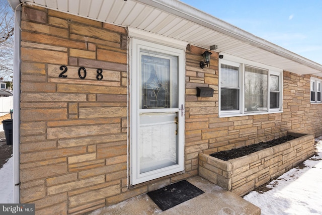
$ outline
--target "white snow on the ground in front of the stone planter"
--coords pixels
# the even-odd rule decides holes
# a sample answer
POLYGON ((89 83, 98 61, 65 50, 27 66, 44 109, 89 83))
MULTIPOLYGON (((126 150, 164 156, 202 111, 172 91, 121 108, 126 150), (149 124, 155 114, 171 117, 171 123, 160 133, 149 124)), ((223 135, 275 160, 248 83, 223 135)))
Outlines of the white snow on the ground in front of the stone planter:
POLYGON ((322 214, 322 137, 317 142, 317 155, 271 181, 271 190, 250 192, 244 199, 261 208, 263 215, 322 214))

